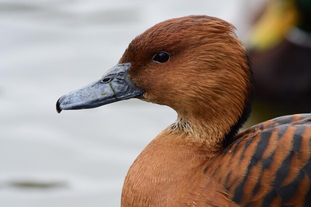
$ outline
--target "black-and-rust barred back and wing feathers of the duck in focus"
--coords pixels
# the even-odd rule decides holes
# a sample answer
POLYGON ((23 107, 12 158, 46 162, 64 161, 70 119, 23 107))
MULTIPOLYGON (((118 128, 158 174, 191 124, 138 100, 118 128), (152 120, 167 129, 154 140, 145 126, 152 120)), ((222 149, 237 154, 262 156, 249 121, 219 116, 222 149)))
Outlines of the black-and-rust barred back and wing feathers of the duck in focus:
POLYGON ((311 206, 311 114, 239 133, 204 172, 221 181, 241 207, 311 206))

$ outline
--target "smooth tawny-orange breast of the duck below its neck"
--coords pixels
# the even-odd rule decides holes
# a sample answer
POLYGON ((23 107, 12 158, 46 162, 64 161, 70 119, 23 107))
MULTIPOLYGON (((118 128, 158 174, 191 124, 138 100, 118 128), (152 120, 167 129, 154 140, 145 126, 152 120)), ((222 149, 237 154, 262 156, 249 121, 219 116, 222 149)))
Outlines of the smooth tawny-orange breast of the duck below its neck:
POLYGON ((122 207, 182 207, 188 202, 197 172, 220 153, 220 147, 194 137, 187 123, 178 124, 189 132, 170 126, 134 161, 124 182, 122 207))

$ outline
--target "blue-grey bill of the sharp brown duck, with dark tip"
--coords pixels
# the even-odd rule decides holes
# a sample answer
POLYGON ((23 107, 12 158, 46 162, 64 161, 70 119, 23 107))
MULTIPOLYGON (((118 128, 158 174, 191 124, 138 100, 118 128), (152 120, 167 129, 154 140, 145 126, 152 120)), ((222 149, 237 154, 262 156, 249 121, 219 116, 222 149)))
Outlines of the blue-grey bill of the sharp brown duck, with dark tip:
POLYGON ((56 110, 89 109, 125 99, 140 97, 145 92, 128 77, 131 64, 118 64, 99 80, 70 92, 56 103, 56 110))

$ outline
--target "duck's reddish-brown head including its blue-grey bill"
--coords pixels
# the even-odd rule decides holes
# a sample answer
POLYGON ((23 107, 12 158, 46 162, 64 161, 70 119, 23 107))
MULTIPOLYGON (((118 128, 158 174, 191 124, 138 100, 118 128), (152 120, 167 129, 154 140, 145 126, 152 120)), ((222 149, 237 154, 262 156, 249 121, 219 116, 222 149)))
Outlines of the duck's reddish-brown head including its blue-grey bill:
POLYGON ((167 105, 189 122, 209 120, 214 127, 226 122, 220 127, 228 133, 243 116, 251 88, 248 58, 233 25, 192 15, 160 22, 137 36, 115 67, 62 96, 57 110, 140 98, 167 105))

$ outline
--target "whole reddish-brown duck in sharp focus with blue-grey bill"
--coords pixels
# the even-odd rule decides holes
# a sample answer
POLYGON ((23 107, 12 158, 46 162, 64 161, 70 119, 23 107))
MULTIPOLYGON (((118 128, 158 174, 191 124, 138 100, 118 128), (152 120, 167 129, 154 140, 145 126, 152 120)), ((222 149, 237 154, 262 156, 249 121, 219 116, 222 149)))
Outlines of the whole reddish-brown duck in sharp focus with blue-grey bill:
POLYGON ((311 206, 311 114, 238 132, 254 83, 234 30, 206 15, 160 22, 100 79, 57 101, 58 113, 130 98, 177 112, 130 167, 121 207, 311 206))

